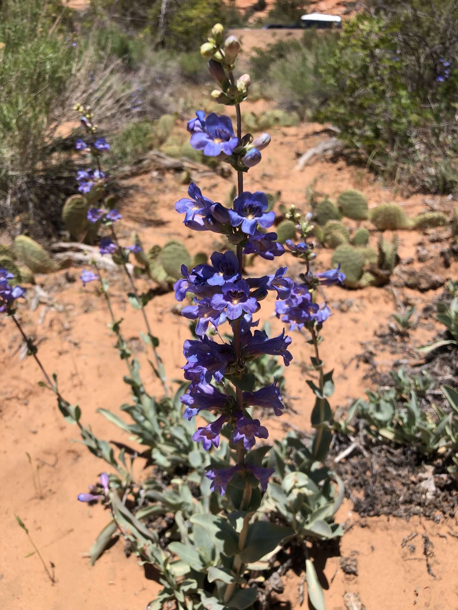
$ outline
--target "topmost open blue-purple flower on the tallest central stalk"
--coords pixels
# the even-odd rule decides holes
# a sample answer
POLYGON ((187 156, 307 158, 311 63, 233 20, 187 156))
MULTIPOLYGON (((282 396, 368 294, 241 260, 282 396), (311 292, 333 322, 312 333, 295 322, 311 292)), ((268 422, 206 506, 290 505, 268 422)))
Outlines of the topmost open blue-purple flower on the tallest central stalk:
POLYGON ((206 157, 218 157, 220 154, 231 156, 239 140, 234 135, 230 118, 225 115, 218 117, 214 112, 211 112, 206 120, 201 119, 198 114, 197 117, 198 121, 189 121, 187 124, 187 130, 192 134, 192 148, 203 151, 206 157))

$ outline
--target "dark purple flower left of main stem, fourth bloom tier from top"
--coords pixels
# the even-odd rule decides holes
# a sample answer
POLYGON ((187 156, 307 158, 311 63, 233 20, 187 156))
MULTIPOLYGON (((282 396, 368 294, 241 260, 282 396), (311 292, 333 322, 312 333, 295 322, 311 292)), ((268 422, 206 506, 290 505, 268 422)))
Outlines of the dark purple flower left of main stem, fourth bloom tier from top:
POLYGON ((216 343, 208 337, 189 340, 183 343, 183 354, 186 358, 184 379, 209 384, 214 377, 222 381, 226 367, 236 361, 232 346, 227 343, 216 343))

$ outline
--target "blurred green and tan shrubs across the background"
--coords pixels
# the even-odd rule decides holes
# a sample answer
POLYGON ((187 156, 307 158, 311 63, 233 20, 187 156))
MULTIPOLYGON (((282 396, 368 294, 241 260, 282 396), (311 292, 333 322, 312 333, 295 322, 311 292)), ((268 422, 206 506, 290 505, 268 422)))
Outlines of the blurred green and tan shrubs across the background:
MULTIPOLYGON (((116 142, 113 175, 154 148, 203 160, 174 124, 194 113, 195 85, 199 100, 202 85, 213 88, 196 51, 211 26, 293 24, 307 6, 91 0, 75 11, 58 0, 2 0, 0 229, 37 237, 61 229, 62 203, 76 191, 76 102, 95 107, 100 135, 116 142)), ((332 124, 352 159, 387 179, 454 193, 457 46, 458 0, 366 0, 342 30, 304 30, 242 59, 253 94, 272 109, 332 124)), ((266 113, 248 128, 297 120, 278 117, 266 113)))

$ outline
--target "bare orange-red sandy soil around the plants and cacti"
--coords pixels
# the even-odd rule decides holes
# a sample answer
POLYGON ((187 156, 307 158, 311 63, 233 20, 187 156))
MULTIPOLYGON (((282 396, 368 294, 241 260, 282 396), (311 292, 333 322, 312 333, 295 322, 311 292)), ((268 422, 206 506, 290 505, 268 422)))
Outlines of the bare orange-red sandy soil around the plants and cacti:
MULTIPOLYGON (((372 174, 348 167, 342 160, 333 163, 319 160, 294 170, 296 154, 304 152, 329 137, 321 126, 301 124, 299 127, 272 130, 272 144, 263 152, 264 162, 253 170, 246 185, 251 190, 282 191, 282 202, 304 206, 305 188, 317 179, 315 188, 333 198, 346 188, 359 188, 366 193, 371 206, 383 201, 399 201, 410 214, 424 209, 424 196, 402 198, 393 189, 383 187, 372 174)), ((200 187, 214 200, 223 200, 234 182, 216 174, 198 178, 200 187)), ((180 217, 173 212, 173 203, 183 196, 186 187, 171 174, 165 179, 144 174, 131 181, 140 188, 123 203, 125 217, 120 232, 128 240, 129 231, 137 229, 145 246, 159 245, 170 239, 181 239, 189 251, 210 251, 216 246, 214 235, 192 234, 184 228, 180 217), (162 221, 160 228, 142 226, 129 218, 154 218, 162 221)), ((436 199, 440 203, 440 199, 436 199)), ((446 207, 446 200, 443 200, 446 207)), ((399 232, 401 257, 415 256, 415 243, 420 239, 416 232, 399 232)), ((371 243, 377 235, 371 236, 371 243)), ((329 264, 331 251, 321 250, 318 260, 322 267, 329 264)), ((436 259, 437 260, 437 259, 436 259)), ((288 260, 291 263, 291 259, 288 260)), ((296 270, 295 262, 290 265, 296 270)), ((415 266, 415 264, 414 264, 415 266)), ((256 270, 271 272, 277 263, 256 261, 256 270)), ((435 263, 435 270, 443 276, 456 277, 457 269, 444 270, 435 263)), ((77 280, 68 283, 66 276, 77 278, 79 269, 61 271, 38 277, 43 290, 54 301, 43 316, 43 306, 32 312, 27 305, 20 306, 18 316, 26 331, 35 336, 40 357, 48 371, 55 371, 60 391, 73 404, 79 403, 86 425, 96 435, 112 440, 130 442, 128 437, 109 424, 96 409, 104 407, 118 412, 128 399, 128 387, 123 384, 124 365, 114 348, 114 339, 106 326, 107 312, 103 300, 91 285, 82 289, 77 280), (38 323, 40 316, 41 323, 38 323)), ((250 270, 251 273, 251 270, 250 270)), ((142 330, 139 312, 126 303, 127 287, 122 276, 111 278, 111 292, 117 315, 124 318, 123 332, 134 338, 142 330)), ((30 290, 31 294, 34 289, 30 290)), ((346 406, 349 399, 363 395, 367 381, 365 365, 357 365, 355 354, 362 353, 363 344, 373 339, 374 331, 386 325, 388 316, 396 309, 390 289, 368 288, 346 291, 338 287, 327 289, 327 298, 334 307, 339 301, 351 299, 346 312, 335 312, 326 323, 322 343, 322 359, 326 368, 335 368, 336 393, 333 407, 346 406)), ((418 306, 434 300, 434 291, 420 294, 404 290, 418 306)), ((158 296, 148 306, 153 332, 161 341, 160 351, 169 378, 180 378, 183 364, 181 346, 188 334, 184 318, 176 315, 173 293, 158 296)), ((263 320, 269 319, 274 332, 282 328, 271 318, 272 298, 263 303, 263 320)), ((87 490, 104 468, 81 444, 78 429, 67 425, 60 415, 53 395, 37 386, 40 371, 32 359, 22 361, 18 354, 21 342, 18 332, 8 319, 0 321, 0 446, 2 468, 3 540, 0 550, 0 608, 5 610, 80 610, 81 608, 116 610, 143 610, 159 589, 158 583, 148 580, 134 556, 126 559, 123 545, 118 542, 104 553, 94 567, 90 567, 85 553, 109 515, 100 506, 87 506, 76 501, 79 492, 87 490), (40 478, 44 490, 38 499, 32 484, 32 471, 26 457, 31 454, 34 464, 40 465, 40 478), (45 561, 55 565, 56 584, 47 580, 27 537, 16 525, 14 514, 19 514, 29 527, 45 561)), ((434 336, 431 331, 418 329, 412 334, 413 345, 420 345, 434 336)), ((294 411, 281 419, 269 422, 272 437, 280 437, 290 426, 308 429, 311 411, 311 393, 305 387, 304 367, 310 358, 310 346, 305 337, 293 333, 294 361, 286 370, 286 384, 294 411)), ((156 379, 150 373, 146 356, 139 342, 136 356, 142 362, 144 381, 148 389, 160 392, 156 379)), ((377 354, 380 370, 390 370, 393 356, 377 354)), ((140 479, 147 472, 139 472, 140 479)), ((360 520, 352 513, 348 501, 338 518, 354 524, 341 540, 341 555, 354 556, 358 561, 358 576, 347 576, 340 567, 340 558, 327 560, 324 575, 327 580, 325 597, 328 610, 344 610, 344 595, 358 594, 367 610, 405 610, 412 605, 419 609, 443 610, 458 607, 458 584, 454 578, 454 565, 458 560, 458 539, 454 520, 431 521, 411 519, 371 518, 360 520), (402 547, 402 540, 418 533, 416 550, 411 553, 402 547), (431 570, 427 572, 423 556, 423 534, 434 544, 431 570)), ((291 608, 299 608, 300 577, 288 573, 285 592, 278 596, 291 608)), ((348 597, 347 597, 348 598, 348 597)), ((346 599, 347 599, 346 598, 346 599)), ((349 603, 347 601, 347 603, 349 603)), ((304 602, 304 606, 307 600, 304 602)), ((357 606, 355 606, 357 608, 357 606)))

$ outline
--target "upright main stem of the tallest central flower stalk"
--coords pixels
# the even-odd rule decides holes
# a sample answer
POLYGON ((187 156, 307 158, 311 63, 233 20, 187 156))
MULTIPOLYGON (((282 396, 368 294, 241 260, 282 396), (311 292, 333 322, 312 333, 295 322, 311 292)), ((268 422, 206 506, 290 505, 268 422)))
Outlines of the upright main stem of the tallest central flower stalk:
MULTIPOLYGON (((233 81, 232 73, 230 73, 230 77, 231 77, 231 81, 233 81)), ((235 110, 236 110, 236 116, 237 116, 237 137, 240 142, 242 139, 242 115, 240 112, 240 104, 236 104, 235 110)), ((237 185, 238 185, 238 194, 241 195, 243 193, 243 172, 242 171, 237 172, 237 185)), ((239 261, 240 273, 242 273, 242 254, 243 254, 242 246, 237 246, 237 259, 239 261)), ((235 350, 235 353, 237 356, 237 361, 239 361, 239 359, 240 359, 240 320, 236 320, 234 322, 234 350, 235 350)), ((243 409, 242 390, 240 390, 238 387, 236 387, 235 392, 236 392, 237 408, 239 409, 239 411, 242 411, 242 409, 243 409)), ((246 453, 247 452, 246 452, 245 448, 242 445, 240 445, 237 449, 238 464, 241 464, 242 466, 245 464, 245 454, 246 453)), ((242 501, 240 504, 241 511, 244 511, 248 508, 248 506, 250 504, 251 496, 252 496, 252 491, 253 490, 252 490, 251 485, 249 483, 245 483, 245 489, 244 489, 242 501)), ((241 529, 240 536, 239 536, 239 549, 240 550, 242 550, 245 547, 245 542, 247 540, 248 527, 249 527, 251 516, 252 515, 250 513, 248 513, 247 515, 245 515, 245 518, 243 521, 242 529, 241 529)), ((244 570, 244 564, 242 563, 242 561, 240 559, 240 555, 238 554, 238 555, 236 555, 236 557, 234 559, 233 571, 234 571, 234 573, 239 575, 241 572, 243 572, 243 570, 244 570)), ((224 594, 224 601, 230 600, 230 598, 232 597, 232 595, 234 593, 235 587, 236 587, 236 583, 230 583, 227 585, 225 594, 224 594)))

